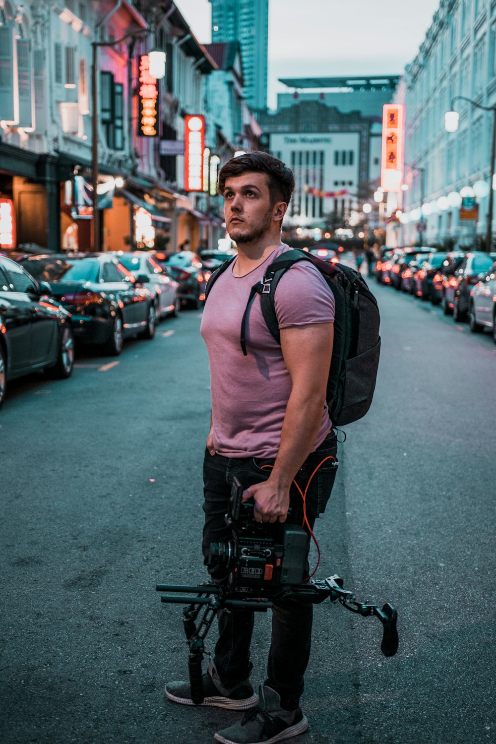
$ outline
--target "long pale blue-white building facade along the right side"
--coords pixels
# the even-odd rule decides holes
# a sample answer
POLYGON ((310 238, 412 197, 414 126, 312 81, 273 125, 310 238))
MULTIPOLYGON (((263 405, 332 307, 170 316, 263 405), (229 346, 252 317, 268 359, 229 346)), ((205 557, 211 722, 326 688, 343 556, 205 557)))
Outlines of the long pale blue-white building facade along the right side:
POLYGON ((440 2, 395 100, 405 104, 408 190, 388 242, 482 246, 489 198, 494 199, 493 114, 478 106, 496 106, 494 0, 440 2), (447 132, 445 113, 452 108, 460 114, 459 126, 447 132), (474 199, 475 210, 460 209, 464 196, 474 199))

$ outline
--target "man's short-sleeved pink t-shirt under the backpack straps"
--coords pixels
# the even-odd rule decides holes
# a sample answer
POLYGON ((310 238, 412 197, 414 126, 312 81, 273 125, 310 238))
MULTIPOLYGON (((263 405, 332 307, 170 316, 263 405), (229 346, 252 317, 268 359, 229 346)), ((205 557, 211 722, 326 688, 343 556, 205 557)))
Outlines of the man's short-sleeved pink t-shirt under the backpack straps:
MULTIPOLYGON (((292 389, 280 344, 268 330, 255 295, 248 315, 246 351, 239 343, 241 321, 251 286, 289 246, 276 248, 264 263, 243 277, 233 266, 219 276, 205 303, 201 333, 207 344, 212 396, 213 446, 230 458, 275 458, 292 389)), ((277 284, 275 307, 280 328, 334 321, 334 297, 318 269, 301 261, 277 284)), ((315 446, 331 422, 327 406, 315 446)))

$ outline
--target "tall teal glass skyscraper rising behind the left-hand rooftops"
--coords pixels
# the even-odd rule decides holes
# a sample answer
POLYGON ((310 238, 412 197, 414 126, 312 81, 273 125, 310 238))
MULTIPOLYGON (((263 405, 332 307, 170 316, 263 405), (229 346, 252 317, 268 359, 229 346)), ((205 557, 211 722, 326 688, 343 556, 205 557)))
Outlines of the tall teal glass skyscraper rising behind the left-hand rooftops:
POLYGON ((212 42, 239 41, 246 100, 267 107, 268 0, 210 0, 212 42))

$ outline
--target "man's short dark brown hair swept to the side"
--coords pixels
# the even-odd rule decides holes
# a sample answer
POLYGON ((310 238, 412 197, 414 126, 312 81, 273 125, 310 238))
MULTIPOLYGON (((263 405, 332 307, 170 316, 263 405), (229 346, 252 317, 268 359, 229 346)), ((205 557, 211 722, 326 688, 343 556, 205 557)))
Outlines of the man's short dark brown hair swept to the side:
POLYGON ((291 168, 274 158, 273 155, 253 150, 245 155, 231 158, 219 170, 219 193, 224 194, 227 179, 236 179, 245 173, 265 173, 271 206, 276 202, 289 204, 294 190, 294 176, 291 168))

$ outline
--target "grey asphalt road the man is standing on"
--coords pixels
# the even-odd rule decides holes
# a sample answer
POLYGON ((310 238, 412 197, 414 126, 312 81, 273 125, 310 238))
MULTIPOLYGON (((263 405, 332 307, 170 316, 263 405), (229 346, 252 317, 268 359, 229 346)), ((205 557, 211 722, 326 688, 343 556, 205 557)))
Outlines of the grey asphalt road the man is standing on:
MULTIPOLYGON (((317 606, 301 741, 496 741, 496 347, 430 304, 372 286, 379 380, 340 448, 318 575, 393 603, 400 647, 384 658, 377 620, 317 606)), ((236 719, 163 696, 167 679, 187 674, 187 648, 181 607, 161 604, 155 583, 205 578, 199 318, 183 312, 155 340, 128 342, 117 364, 87 354, 69 380, 10 385, 0 411, 4 744, 206 744, 236 719)), ((257 618, 254 684, 269 621, 257 618)))

